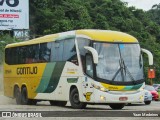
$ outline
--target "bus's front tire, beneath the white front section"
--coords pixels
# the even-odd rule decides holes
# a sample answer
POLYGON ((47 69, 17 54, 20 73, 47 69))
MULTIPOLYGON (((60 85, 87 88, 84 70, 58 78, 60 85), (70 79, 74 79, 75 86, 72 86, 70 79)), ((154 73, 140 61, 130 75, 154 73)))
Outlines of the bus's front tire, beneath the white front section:
POLYGON ((71 90, 69 100, 70 100, 72 108, 74 108, 74 109, 83 109, 87 105, 86 103, 80 102, 79 93, 78 93, 77 88, 74 88, 71 90))

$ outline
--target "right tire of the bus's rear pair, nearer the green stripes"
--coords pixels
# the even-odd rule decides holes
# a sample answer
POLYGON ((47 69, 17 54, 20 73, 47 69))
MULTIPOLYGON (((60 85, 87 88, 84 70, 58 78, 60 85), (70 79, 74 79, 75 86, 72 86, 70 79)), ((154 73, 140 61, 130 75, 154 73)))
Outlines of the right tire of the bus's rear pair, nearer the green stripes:
POLYGON ((21 102, 22 105, 36 105, 37 101, 33 99, 28 99, 27 88, 23 87, 21 91, 21 102))

